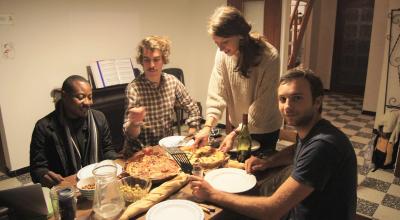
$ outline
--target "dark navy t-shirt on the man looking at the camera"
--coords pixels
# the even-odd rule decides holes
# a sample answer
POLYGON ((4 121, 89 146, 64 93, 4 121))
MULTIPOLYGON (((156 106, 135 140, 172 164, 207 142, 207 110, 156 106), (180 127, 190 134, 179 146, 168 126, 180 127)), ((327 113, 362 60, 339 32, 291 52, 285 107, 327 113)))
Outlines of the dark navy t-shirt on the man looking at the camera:
POLYGON ((314 191, 289 213, 290 219, 354 219, 357 207, 357 160, 347 136, 321 119, 298 138, 291 174, 314 191))

